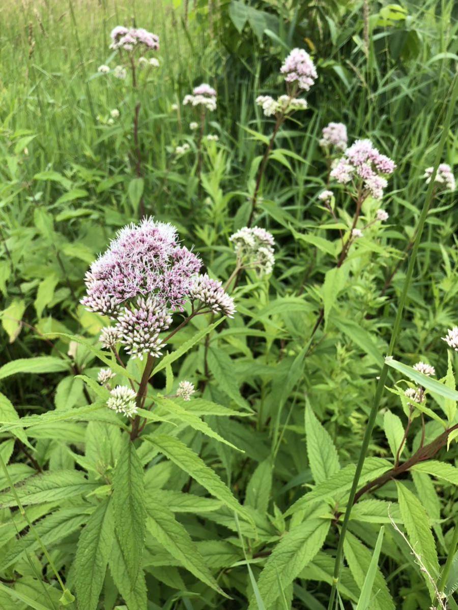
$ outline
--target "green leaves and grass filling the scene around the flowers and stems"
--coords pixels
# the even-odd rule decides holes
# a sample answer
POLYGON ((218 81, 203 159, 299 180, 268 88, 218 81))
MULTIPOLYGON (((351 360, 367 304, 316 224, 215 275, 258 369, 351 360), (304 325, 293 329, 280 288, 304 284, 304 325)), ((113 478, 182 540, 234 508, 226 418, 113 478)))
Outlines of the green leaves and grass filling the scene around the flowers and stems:
MULTIPOLYGON (((453 2, 368 10, 366 19, 362 2, 338 0, 1 5, 1 608, 327 608, 458 60, 453 2), (109 32, 118 23, 161 38, 160 68, 145 73, 136 98, 97 73, 117 63, 109 32), (256 224, 275 236, 274 273, 244 276, 238 314, 208 335, 207 359, 209 320, 173 337, 170 350, 197 339, 154 376, 151 414, 162 421, 129 443, 95 382, 105 322, 79 304, 85 271, 118 228, 138 220, 143 199, 146 213, 194 244, 209 273, 230 276, 228 237, 247 223, 273 126, 254 100, 283 93, 278 70, 294 46, 313 55, 319 79, 310 109, 278 134, 261 186, 256 224), (204 144, 199 184, 195 116, 181 100, 202 81, 218 91, 206 132, 219 142, 204 144), (140 178, 131 154, 137 99, 140 178), (112 109, 120 117, 110 124, 112 109), (338 281, 338 231, 317 199, 327 185, 318 139, 329 121, 346 123, 351 141, 371 138, 398 165, 383 199, 390 220, 358 243, 338 281), (183 143, 191 151, 177 157, 183 143), (156 396, 181 379, 205 392, 183 404, 156 396), (76 601, 62 597, 56 573, 76 601)), ((456 134, 454 110, 443 151, 452 168, 456 134)), ((367 201, 363 212, 377 207, 367 201)), ((338 189, 336 209, 349 226, 352 203, 338 189)), ((429 389, 425 442, 457 423, 456 353, 448 358, 441 339, 457 324, 457 221, 456 195, 436 193, 394 353, 409 368, 390 368, 394 392, 383 393, 360 487, 393 467, 407 422, 398 392, 406 386, 394 384, 415 381, 419 360, 443 378, 429 389)), ((141 372, 132 361, 128 370, 141 372)), ((421 434, 416 417, 402 459, 421 434)), ((433 457, 355 504, 336 608, 440 607, 438 585, 456 608, 456 443, 433 457)))

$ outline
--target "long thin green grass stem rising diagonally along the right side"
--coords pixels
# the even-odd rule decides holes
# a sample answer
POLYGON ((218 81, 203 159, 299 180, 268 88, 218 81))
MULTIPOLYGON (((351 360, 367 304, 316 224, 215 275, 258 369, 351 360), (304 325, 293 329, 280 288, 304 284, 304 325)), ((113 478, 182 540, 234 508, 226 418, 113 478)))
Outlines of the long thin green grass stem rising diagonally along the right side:
MULTIPOLYGON (((405 275, 404 286, 402 287, 401 298, 399 300, 398 311, 396 312, 396 318, 394 319, 393 332, 391 334, 390 345, 388 346, 387 356, 393 356, 394 345, 396 343, 396 339, 398 338, 399 329, 401 328, 401 320, 402 320, 402 312, 404 310, 405 303, 407 302, 407 292, 409 290, 410 281, 412 280, 413 275, 413 267, 415 265, 416 255, 418 253, 418 248, 420 247, 421 235, 423 234, 424 223, 426 221, 426 216, 429 210, 429 206, 431 205, 433 190, 434 190, 434 180, 435 175, 437 173, 437 168, 440 163, 442 152, 445 146, 446 138, 448 136, 449 127, 451 123, 452 113, 455 107, 455 102, 458 96, 458 77, 455 75, 453 84, 451 87, 451 95, 449 96, 448 101, 448 109, 445 117, 445 121, 442 127, 442 134, 437 146, 435 159, 434 159, 434 169, 432 171, 431 181, 429 182, 426 196, 424 198, 423 209, 421 210, 420 219, 418 220, 418 228, 416 231, 415 243, 413 244, 412 254, 409 258, 409 266, 407 267, 407 273, 405 275)), ((383 387, 385 387, 385 382, 387 381, 388 376, 388 364, 385 362, 383 364, 382 370, 380 371, 379 382, 377 383, 376 393, 374 395, 373 405, 371 407, 371 412, 369 413, 368 423, 366 425, 366 430, 363 437, 363 442, 360 450, 360 455, 358 458, 358 463, 356 466, 355 476, 352 483, 352 488, 350 491, 347 508, 345 511, 344 519, 342 522, 342 527, 340 531, 339 542, 337 545, 336 556, 335 556, 335 564, 334 564, 334 573, 332 580, 332 589, 329 597, 329 605, 328 610, 333 610, 335 595, 337 584, 339 582, 340 569, 342 564, 342 555, 343 555, 343 543, 345 540, 345 534, 347 531, 348 522, 350 519, 351 509, 353 505, 353 501, 355 498, 355 494, 357 492, 358 481, 360 479, 361 471, 363 468, 364 461, 366 459, 366 453, 368 451, 369 442, 371 440, 372 432, 374 429, 374 425, 376 423, 377 412, 379 411, 380 399, 382 398, 383 387)))

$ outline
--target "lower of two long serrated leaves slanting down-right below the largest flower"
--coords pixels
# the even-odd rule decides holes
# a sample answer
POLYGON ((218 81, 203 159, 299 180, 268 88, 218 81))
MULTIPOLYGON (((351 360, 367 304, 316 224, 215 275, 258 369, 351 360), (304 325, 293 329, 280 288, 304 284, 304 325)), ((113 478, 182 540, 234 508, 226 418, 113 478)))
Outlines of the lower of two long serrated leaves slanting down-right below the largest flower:
POLYGON ((169 553, 196 578, 222 595, 224 591, 206 567, 205 559, 187 533, 186 528, 175 519, 173 512, 162 501, 161 495, 147 498, 147 528, 169 553))

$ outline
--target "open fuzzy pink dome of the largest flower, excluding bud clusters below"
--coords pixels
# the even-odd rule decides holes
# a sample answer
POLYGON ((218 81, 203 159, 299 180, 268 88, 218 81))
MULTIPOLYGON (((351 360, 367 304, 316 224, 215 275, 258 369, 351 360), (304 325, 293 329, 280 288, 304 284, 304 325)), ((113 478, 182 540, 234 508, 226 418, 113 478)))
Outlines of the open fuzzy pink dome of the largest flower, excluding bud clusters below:
POLYGON ((156 296, 181 309, 202 263, 177 242, 176 229, 169 223, 144 218, 140 224, 128 224, 90 266, 81 303, 114 318, 124 301, 137 296, 156 296))

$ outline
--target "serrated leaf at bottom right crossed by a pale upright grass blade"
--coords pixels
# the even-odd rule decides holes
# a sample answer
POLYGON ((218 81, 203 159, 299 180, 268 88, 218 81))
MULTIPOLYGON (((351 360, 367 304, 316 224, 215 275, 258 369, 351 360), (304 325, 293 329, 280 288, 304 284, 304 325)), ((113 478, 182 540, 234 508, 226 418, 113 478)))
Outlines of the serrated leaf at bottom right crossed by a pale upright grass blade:
POLYGON ((394 610, 393 599, 391 598, 385 578, 383 578, 382 572, 377 568, 377 565, 373 566, 372 564, 373 551, 369 551, 354 534, 347 531, 344 541, 344 554, 353 578, 360 589, 363 589, 366 575, 371 570, 371 566, 375 572, 369 608, 371 610, 394 610))

